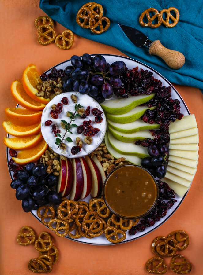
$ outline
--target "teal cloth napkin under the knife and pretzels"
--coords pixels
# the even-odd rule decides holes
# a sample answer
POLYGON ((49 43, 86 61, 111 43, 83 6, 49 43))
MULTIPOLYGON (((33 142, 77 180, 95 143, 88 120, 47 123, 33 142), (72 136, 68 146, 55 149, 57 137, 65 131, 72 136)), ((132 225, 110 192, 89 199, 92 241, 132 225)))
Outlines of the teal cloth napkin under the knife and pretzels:
MULTIPOLYGON (((98 0, 97 2, 103 6, 103 16, 107 16, 111 21, 109 29, 100 35, 93 34, 89 29, 81 28, 76 23, 77 11, 86 2, 88 1, 40 0, 39 6, 52 19, 77 35, 113 46, 127 56, 154 68, 171 82, 203 89, 202 1, 98 0), (173 28, 167 28, 164 24, 154 29, 142 27, 139 24, 139 16, 150 7, 158 11, 176 7, 180 12, 178 24, 173 28), (180 51, 186 58, 185 64, 179 70, 169 68, 159 57, 149 55, 147 48, 134 46, 117 23, 137 28, 150 40, 158 39, 165 47, 180 51)), ((94 53, 97 53, 97 49, 94 53)))

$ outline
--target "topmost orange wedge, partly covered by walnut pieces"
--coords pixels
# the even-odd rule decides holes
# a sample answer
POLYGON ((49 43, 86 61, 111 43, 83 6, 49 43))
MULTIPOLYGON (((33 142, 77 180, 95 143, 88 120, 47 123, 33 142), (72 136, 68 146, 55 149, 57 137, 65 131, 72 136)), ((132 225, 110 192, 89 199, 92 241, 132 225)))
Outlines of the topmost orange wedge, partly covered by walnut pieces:
POLYGON ((26 93, 32 97, 32 99, 44 104, 47 104, 50 101, 49 98, 36 96, 36 94, 39 92, 39 90, 37 90, 37 85, 42 83, 42 80, 40 79, 34 64, 30 64, 24 70, 22 82, 26 93))

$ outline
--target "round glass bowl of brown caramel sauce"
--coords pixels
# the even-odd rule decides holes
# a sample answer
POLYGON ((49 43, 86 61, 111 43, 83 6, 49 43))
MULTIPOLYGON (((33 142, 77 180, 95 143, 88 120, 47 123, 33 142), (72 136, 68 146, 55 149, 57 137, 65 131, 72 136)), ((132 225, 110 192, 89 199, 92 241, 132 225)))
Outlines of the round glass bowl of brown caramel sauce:
POLYGON ((145 168, 129 164, 114 169, 103 185, 103 199, 111 212, 125 219, 147 215, 155 207, 159 188, 145 168))

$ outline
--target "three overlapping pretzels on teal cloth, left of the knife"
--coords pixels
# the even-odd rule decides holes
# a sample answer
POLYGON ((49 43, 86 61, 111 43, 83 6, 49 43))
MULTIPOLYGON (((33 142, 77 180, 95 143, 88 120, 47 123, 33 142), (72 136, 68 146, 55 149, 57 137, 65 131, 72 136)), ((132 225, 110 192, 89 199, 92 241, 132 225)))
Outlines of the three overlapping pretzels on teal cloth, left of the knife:
POLYGON ((76 22, 95 34, 101 34, 110 26, 108 17, 103 16, 103 7, 95 2, 84 4, 77 12, 76 22), (105 23, 105 24, 103 24, 105 23))

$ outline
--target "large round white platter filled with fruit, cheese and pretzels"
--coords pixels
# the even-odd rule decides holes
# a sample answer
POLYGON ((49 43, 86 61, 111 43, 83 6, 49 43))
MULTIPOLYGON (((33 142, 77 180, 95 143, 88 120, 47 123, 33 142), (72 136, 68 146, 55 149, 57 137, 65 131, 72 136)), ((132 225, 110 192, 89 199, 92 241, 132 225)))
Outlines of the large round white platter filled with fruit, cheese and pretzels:
MULTIPOLYGON (((11 187, 25 212, 39 221, 44 215, 60 237, 96 245, 135 240, 170 218, 197 171, 199 138, 195 116, 167 79, 128 57, 84 54, 40 77, 31 64, 22 83, 12 83, 18 105, 6 108, 3 127, 11 187), (111 215, 103 187, 132 165, 156 178, 152 194, 143 171, 133 176, 143 183, 142 201, 157 200, 134 220, 111 215)), ((125 192, 118 186, 119 199, 125 192)))

